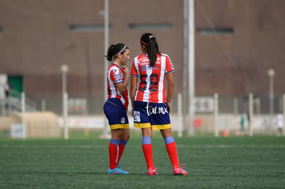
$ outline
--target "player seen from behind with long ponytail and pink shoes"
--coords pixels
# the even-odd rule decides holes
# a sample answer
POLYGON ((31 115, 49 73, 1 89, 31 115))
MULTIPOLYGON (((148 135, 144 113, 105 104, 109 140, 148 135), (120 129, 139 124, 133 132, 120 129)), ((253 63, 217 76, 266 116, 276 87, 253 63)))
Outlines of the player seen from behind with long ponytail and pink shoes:
POLYGON ((142 54, 134 58, 131 67, 131 104, 134 127, 142 129, 142 151, 147 162, 147 175, 158 175, 154 167, 151 131, 159 129, 165 140, 174 175, 188 175, 179 166, 176 142, 171 132, 169 118, 173 94, 174 67, 167 54, 158 50, 156 37, 146 33, 140 38, 142 54), (167 96, 165 94, 167 78, 167 96))

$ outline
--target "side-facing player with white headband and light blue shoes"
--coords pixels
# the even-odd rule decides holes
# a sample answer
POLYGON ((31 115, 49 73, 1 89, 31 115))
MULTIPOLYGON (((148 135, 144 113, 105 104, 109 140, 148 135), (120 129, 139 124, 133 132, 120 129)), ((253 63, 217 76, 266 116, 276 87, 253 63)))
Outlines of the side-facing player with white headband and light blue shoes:
POLYGON ((129 140, 129 120, 127 118, 129 69, 123 67, 129 60, 129 47, 123 43, 110 45, 106 57, 107 60, 113 61, 108 69, 108 99, 103 107, 111 129, 108 173, 127 175, 129 172, 122 170, 118 162, 129 140))

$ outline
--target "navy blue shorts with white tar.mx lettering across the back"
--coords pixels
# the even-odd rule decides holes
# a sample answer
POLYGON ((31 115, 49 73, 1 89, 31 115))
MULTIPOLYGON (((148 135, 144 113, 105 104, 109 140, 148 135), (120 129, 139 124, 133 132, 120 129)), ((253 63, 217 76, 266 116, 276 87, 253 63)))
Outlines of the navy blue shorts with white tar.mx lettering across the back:
POLYGON ((134 127, 169 129, 171 122, 167 103, 134 102, 134 127))

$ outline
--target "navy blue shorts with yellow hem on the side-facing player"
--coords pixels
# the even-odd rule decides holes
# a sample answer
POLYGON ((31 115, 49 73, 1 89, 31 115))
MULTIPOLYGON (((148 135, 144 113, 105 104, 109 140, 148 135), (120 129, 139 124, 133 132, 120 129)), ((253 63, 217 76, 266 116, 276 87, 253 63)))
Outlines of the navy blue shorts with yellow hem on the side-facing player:
POLYGON ((110 129, 129 129, 127 111, 118 98, 109 98, 103 107, 110 129))

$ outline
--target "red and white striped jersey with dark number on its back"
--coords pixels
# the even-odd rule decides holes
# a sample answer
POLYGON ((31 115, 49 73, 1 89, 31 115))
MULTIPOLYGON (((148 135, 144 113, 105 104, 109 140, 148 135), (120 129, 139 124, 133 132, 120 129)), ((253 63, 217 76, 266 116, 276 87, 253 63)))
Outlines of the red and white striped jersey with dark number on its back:
POLYGON ((167 102, 165 95, 165 74, 174 71, 167 54, 157 54, 156 64, 149 66, 147 54, 136 56, 131 67, 131 76, 139 78, 134 100, 142 102, 167 102))

